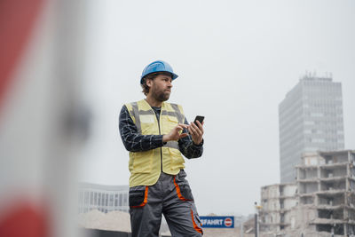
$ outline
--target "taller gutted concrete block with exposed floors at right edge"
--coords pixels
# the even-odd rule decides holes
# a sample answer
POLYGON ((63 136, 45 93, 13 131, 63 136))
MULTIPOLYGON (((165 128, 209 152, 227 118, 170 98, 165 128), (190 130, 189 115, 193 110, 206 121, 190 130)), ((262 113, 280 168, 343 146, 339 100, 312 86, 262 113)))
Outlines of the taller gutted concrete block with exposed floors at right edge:
POLYGON ((304 154, 296 171, 297 229, 355 234, 355 151, 304 154))

